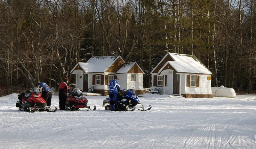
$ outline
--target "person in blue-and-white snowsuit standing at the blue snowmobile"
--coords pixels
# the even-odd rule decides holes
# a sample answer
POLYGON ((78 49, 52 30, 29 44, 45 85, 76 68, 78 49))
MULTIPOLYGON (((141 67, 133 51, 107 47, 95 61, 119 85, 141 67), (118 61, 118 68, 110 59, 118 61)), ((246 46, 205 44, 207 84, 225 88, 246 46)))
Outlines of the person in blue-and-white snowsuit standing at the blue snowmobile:
POLYGON ((117 93, 120 92, 120 86, 119 86, 119 79, 116 78, 113 81, 109 83, 108 89, 109 89, 109 100, 110 100, 110 109, 111 111, 116 111, 117 106, 117 93))

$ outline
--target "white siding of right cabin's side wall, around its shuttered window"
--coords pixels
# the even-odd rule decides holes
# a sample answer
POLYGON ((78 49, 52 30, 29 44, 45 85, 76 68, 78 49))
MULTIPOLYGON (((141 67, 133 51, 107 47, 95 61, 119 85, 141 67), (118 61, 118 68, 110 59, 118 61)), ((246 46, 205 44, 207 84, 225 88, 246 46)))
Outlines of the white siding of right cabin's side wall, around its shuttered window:
POLYGON ((185 76, 185 90, 186 94, 212 94, 212 88, 211 88, 211 80, 207 80, 207 77, 211 77, 211 75, 198 75, 200 76, 199 78, 199 87, 187 87, 187 75, 185 76))

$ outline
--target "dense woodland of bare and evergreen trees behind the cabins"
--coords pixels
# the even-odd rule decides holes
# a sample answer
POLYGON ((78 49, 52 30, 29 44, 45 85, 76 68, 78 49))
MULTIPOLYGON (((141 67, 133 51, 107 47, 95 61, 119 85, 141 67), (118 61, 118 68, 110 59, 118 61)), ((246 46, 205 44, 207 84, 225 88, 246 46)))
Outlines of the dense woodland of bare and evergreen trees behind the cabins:
POLYGON ((212 86, 253 93, 255 13, 255 0, 0 0, 0 95, 58 90, 92 56, 136 61, 150 87, 167 52, 196 55, 212 86))

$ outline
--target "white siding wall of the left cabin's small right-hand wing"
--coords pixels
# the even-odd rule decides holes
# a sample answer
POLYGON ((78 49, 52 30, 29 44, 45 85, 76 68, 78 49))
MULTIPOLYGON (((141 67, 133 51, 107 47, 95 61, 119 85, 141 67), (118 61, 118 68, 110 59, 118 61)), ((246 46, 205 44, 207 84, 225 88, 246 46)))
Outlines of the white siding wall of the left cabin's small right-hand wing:
POLYGON ((135 90, 144 90, 143 88, 143 73, 136 73, 136 81, 132 81, 132 73, 127 73, 127 87, 134 87, 135 90))

